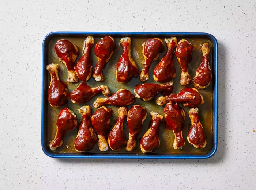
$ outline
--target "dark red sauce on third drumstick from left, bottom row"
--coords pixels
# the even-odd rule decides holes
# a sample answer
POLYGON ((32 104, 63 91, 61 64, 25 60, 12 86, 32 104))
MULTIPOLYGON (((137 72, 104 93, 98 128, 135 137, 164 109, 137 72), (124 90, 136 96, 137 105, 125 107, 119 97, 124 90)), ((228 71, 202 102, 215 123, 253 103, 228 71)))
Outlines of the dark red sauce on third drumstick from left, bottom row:
POLYGON ((108 111, 106 111, 104 108, 99 108, 92 116, 92 125, 98 135, 106 136, 110 130, 108 121, 112 115, 112 109, 107 109, 108 111))

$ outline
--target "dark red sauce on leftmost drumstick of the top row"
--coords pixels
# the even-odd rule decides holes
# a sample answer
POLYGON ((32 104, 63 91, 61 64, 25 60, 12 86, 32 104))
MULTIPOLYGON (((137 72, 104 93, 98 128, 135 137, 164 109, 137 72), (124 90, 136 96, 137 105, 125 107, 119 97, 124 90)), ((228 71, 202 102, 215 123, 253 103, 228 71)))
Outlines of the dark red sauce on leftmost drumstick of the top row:
POLYGON ((78 55, 75 46, 68 40, 59 40, 55 45, 55 51, 59 58, 61 58, 67 66, 69 71, 74 70, 74 62, 72 62, 72 54, 78 55))

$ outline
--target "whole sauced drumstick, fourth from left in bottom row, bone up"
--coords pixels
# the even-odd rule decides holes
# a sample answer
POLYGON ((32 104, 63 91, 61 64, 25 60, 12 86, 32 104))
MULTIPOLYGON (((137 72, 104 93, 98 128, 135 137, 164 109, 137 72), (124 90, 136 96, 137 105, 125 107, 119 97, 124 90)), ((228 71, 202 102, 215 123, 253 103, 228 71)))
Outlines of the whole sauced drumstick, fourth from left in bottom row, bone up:
POLYGON ((127 114, 127 108, 120 107, 118 109, 118 117, 116 124, 111 129, 108 135, 108 144, 112 150, 120 150, 126 144, 125 134, 124 134, 124 119, 127 114))

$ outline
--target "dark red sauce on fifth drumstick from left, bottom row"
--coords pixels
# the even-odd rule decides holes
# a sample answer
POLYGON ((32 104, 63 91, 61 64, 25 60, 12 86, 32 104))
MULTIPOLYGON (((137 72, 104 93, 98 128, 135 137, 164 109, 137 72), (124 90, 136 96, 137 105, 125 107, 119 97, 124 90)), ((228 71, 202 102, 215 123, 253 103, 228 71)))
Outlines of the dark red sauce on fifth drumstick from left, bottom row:
POLYGON ((129 127, 129 133, 132 136, 132 140, 135 140, 137 135, 142 130, 142 120, 147 115, 147 111, 142 106, 134 105, 129 110, 127 115, 127 124, 129 127))

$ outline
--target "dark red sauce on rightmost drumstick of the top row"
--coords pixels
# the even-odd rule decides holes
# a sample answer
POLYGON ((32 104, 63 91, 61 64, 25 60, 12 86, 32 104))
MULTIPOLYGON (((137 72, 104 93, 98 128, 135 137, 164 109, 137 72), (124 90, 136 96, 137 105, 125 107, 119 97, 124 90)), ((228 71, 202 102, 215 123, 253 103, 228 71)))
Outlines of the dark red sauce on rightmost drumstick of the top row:
POLYGON ((201 65, 196 70, 199 74, 194 78, 194 82, 200 86, 207 86, 211 82, 211 70, 208 67, 208 63, 209 55, 205 54, 202 58, 201 65))

